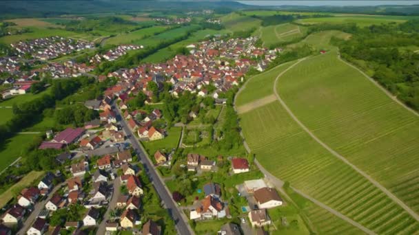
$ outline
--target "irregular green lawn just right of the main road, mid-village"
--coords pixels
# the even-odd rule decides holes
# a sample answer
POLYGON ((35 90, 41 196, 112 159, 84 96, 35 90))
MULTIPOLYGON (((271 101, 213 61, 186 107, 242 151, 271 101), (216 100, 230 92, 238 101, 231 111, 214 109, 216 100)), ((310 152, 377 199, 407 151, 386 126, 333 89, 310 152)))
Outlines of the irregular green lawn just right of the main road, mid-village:
POLYGON ((179 139, 181 138, 181 127, 172 127, 167 131, 167 136, 164 139, 154 140, 152 142, 142 142, 145 150, 149 153, 150 156, 156 153, 156 150, 166 149, 171 150, 172 148, 177 148, 179 139))

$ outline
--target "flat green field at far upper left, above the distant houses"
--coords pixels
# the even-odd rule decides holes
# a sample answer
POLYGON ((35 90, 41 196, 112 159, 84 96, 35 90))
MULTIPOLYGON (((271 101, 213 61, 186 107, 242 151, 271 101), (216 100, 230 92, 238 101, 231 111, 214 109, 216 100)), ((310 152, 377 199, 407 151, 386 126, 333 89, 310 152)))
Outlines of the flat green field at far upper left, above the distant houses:
POLYGON ((64 37, 80 37, 83 38, 87 35, 79 34, 76 32, 70 32, 60 29, 43 29, 38 27, 29 27, 32 32, 24 33, 24 34, 17 34, 17 35, 8 35, 3 36, 0 38, 0 43, 16 43, 18 41, 23 41, 27 39, 34 39, 34 38, 45 38, 47 36, 64 36, 64 37))

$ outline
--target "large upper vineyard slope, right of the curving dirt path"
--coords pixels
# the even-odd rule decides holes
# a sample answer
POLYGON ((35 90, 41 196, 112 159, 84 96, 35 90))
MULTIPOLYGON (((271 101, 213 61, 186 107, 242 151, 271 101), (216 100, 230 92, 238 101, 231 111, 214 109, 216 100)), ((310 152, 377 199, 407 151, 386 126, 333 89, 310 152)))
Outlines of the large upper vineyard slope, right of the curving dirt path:
POLYGON ((334 53, 290 69, 278 93, 317 137, 419 212, 418 116, 334 53))

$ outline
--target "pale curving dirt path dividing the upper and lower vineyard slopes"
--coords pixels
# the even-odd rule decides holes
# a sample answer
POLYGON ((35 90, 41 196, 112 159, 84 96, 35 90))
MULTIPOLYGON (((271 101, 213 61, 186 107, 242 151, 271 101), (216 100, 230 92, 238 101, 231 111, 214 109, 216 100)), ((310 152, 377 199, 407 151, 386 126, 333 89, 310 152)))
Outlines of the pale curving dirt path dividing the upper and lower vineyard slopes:
MULTIPOLYGON (((298 62, 295 63, 294 65, 297 65, 298 63, 300 63, 304 59, 305 58, 303 58, 301 60, 298 60, 298 62)), ((334 155, 335 157, 337 157, 338 159, 340 159, 341 161, 343 161, 345 164, 347 164, 348 166, 350 166, 352 169, 354 169, 356 172, 358 172, 360 175, 362 175, 363 177, 365 177, 366 179, 368 179, 368 181, 370 181, 374 186, 376 186, 382 192, 384 192, 387 195, 387 197, 389 197, 395 203, 397 203, 398 205, 400 205, 400 207, 402 207, 403 209, 405 209, 414 219, 416 219, 416 221, 419 221, 419 215, 416 214, 416 212, 413 212, 413 210, 411 210, 411 208, 409 208, 409 206, 407 206, 400 199, 398 199, 398 197, 396 197, 389 190, 387 190, 387 188, 385 188, 380 183, 378 183, 378 181, 376 181, 375 179, 373 179, 372 177, 370 177, 369 175, 367 175, 367 173, 365 173, 362 170, 360 170, 354 164, 351 164, 351 162, 349 162, 345 157, 343 157, 342 155, 340 155, 339 153, 337 153, 335 150, 333 150, 332 148, 330 148, 327 144, 325 144, 320 139, 318 139, 318 137, 316 137, 316 135, 314 135, 314 133, 312 133, 309 130, 309 128, 307 128, 307 126, 305 126, 302 122, 300 122, 300 120, 298 120, 298 117, 296 117, 296 115, 294 115, 294 113, 292 113, 291 109, 289 109, 289 107, 287 106, 287 104, 285 104, 285 102, 282 100, 282 98, 280 98, 280 96, 278 94, 278 91, 276 90, 276 85, 278 84, 278 80, 279 80, 280 76, 282 76, 283 74, 285 74, 285 72, 287 72, 289 69, 291 69, 292 67, 294 67, 294 65, 292 65, 288 69, 285 69, 285 71, 283 71, 282 73, 278 74, 278 76, 276 77, 275 82, 274 82, 274 93, 275 93, 275 96, 276 96, 276 98, 278 98, 278 101, 284 107, 284 109, 287 111, 287 113, 298 124, 298 126, 300 126, 301 128, 303 128, 303 130, 307 134, 309 134, 314 140, 316 140, 316 142, 318 142, 318 144, 320 144, 321 146, 323 146, 323 148, 326 148, 329 151, 329 153, 331 153, 332 155, 334 155)))

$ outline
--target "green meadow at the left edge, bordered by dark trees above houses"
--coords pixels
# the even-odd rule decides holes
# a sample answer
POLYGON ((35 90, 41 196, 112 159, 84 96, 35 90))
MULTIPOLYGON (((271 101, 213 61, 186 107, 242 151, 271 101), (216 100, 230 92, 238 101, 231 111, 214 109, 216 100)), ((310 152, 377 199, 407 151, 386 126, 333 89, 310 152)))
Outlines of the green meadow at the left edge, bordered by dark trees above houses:
POLYGON ((0 171, 8 167, 14 160, 21 157, 21 151, 25 145, 32 142, 37 135, 14 135, 6 139, 6 144, 0 146, 0 171))

